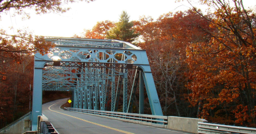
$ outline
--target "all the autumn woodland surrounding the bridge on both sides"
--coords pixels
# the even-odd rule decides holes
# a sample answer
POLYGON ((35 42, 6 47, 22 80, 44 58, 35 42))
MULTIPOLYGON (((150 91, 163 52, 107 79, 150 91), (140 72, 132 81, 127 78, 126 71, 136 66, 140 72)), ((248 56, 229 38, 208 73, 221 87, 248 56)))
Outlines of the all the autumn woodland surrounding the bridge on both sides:
MULTIPOLYGON (((11 8, 21 13, 31 5, 17 7, 11 1, 12 6, 5 7, 6 2, 1 2, 0 13, 11 8)), ((256 11, 245 9, 242 0, 200 2, 209 6, 209 12, 192 5, 157 20, 142 16, 133 21, 123 12, 118 22, 98 22, 74 37, 118 39, 146 49, 164 115, 256 127, 256 11)), ((40 1, 34 6, 38 13, 66 12, 59 3, 40 1)), ((0 127, 30 111, 33 54, 54 47, 43 37, 24 30, 18 33, 7 35, 0 29, 0 127)), ((43 96, 47 102, 71 94, 44 92, 43 96)), ((145 106, 149 108, 147 99, 145 106)))

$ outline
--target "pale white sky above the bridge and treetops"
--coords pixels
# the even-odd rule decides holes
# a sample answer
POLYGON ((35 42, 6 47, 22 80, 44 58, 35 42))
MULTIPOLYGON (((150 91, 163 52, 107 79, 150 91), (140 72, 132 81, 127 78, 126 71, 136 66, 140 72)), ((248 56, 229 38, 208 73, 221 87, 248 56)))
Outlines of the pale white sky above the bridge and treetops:
MULTIPOLYGON (((256 0, 243 0, 245 7, 256 8, 256 0)), ((204 11, 205 6, 197 1, 192 3, 204 11)), ((71 7, 66 13, 49 13, 37 15, 33 10, 30 19, 21 20, 21 16, 12 17, 12 10, 8 14, 1 14, 0 28, 10 35, 17 34, 17 29, 27 28, 37 36, 72 37, 81 35, 84 29, 92 29, 98 21, 118 22, 119 15, 126 11, 130 20, 139 20, 143 15, 152 16, 155 20, 168 12, 185 11, 191 8, 187 2, 175 0, 96 0, 86 3, 79 2, 67 5, 71 7)))

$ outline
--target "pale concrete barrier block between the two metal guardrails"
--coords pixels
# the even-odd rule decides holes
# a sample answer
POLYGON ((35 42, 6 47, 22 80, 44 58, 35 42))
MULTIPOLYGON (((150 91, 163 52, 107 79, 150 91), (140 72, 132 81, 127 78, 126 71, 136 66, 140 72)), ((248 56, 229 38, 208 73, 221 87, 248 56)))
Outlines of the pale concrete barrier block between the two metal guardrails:
POLYGON ((168 129, 181 130, 186 132, 198 133, 197 122, 208 122, 204 119, 182 118, 177 116, 168 116, 168 129))

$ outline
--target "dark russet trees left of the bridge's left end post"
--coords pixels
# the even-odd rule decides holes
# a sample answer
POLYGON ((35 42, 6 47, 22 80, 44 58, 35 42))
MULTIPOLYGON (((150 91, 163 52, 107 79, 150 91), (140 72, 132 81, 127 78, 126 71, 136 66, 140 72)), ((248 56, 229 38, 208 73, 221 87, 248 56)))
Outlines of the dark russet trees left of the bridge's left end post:
POLYGON ((6 79, 0 82, 0 128, 29 112, 30 85, 33 86, 34 58, 20 55, 20 62, 6 62, 0 71, 6 79))

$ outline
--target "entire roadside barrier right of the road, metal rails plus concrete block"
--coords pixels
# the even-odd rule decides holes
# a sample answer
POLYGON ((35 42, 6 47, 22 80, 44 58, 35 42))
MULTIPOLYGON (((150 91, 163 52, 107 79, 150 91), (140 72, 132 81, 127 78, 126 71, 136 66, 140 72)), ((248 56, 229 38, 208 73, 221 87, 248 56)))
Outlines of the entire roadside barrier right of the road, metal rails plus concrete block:
POLYGON ((237 127, 232 125, 206 123, 204 119, 182 118, 177 116, 158 116, 79 108, 65 108, 68 111, 102 116, 105 118, 152 125, 167 129, 181 130, 192 133, 256 133, 256 128, 237 127))

